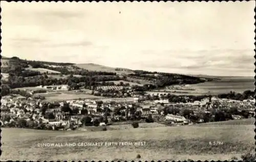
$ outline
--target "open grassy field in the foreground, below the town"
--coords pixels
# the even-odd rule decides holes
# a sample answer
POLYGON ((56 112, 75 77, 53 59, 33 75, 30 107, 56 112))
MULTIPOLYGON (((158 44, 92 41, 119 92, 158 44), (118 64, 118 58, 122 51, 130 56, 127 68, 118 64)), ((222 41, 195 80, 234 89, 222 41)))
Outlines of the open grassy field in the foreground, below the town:
POLYGON ((2 128, 1 160, 230 160, 254 146, 254 119, 239 124, 46 131, 2 128), (145 142, 145 146, 37 147, 38 143, 145 142), (209 141, 223 145, 210 146, 209 141), (136 159, 140 154, 141 158, 136 159))

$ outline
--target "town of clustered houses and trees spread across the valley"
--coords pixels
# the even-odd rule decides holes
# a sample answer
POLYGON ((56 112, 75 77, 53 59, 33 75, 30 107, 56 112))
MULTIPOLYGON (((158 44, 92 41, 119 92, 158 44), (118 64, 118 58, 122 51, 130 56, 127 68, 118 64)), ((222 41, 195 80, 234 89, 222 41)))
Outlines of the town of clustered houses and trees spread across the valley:
MULTIPOLYGON (((115 101, 110 98, 49 102, 38 98, 38 95, 58 94, 61 93, 57 91, 58 89, 62 92, 68 91, 69 86, 37 88, 39 89, 37 91, 18 90, 19 94, 26 94, 24 96, 17 94, 3 96, 2 127, 47 130, 86 130, 82 128, 102 127, 101 130, 107 130, 109 125, 132 124, 137 128, 140 123, 156 122, 166 126, 181 126, 254 116, 255 101, 252 96, 248 96, 252 91, 245 91, 243 95, 246 99, 242 101, 218 98, 218 96, 193 99, 191 96, 175 96, 170 93, 141 94, 133 90, 133 100, 130 101, 115 101)), ((133 88, 130 86, 127 89, 133 88)))

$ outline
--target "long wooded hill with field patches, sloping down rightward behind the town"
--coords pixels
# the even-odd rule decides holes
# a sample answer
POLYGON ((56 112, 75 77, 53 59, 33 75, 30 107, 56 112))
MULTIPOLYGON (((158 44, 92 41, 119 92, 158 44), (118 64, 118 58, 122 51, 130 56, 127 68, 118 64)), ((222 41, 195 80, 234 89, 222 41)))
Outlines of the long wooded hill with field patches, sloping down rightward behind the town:
POLYGON ((144 86, 142 89, 148 90, 164 88, 165 86, 176 84, 197 84, 212 81, 212 79, 207 78, 199 78, 172 73, 147 72, 141 70, 133 71, 127 68, 114 68, 94 63, 73 64, 31 61, 19 59, 18 57, 12 57, 5 60, 6 66, 2 67, 2 73, 11 74, 11 77, 9 77, 11 80, 6 81, 6 84, 8 84, 11 88, 38 86, 41 84, 41 82, 44 82, 47 85, 52 85, 53 82, 58 82, 57 84, 67 84, 68 82, 72 82, 74 83, 72 84, 74 86, 75 84, 77 85, 81 82, 86 82, 86 86, 91 86, 95 84, 94 82, 124 80, 126 82, 130 82, 130 84, 133 84, 131 82, 137 83, 139 85, 148 84, 148 86, 144 86), (55 74, 59 76, 48 78, 47 76, 49 74, 55 74), (71 80, 69 80, 69 78, 63 80, 63 77, 61 77, 62 80, 60 80, 60 76, 62 75, 73 75, 73 77, 71 77, 71 80), (74 75, 79 75, 82 77, 77 78, 74 77, 74 75), (34 78, 26 79, 26 77, 34 78), (53 78, 59 79, 54 80, 53 78), (20 83, 20 80, 23 80, 22 84, 20 83))

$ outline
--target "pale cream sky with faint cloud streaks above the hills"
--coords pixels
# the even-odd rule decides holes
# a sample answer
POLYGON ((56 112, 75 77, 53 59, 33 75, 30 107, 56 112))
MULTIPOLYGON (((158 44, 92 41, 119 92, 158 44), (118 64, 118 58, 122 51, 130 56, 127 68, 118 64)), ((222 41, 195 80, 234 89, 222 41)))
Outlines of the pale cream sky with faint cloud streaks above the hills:
POLYGON ((3 2, 2 56, 254 76, 255 2, 3 2))

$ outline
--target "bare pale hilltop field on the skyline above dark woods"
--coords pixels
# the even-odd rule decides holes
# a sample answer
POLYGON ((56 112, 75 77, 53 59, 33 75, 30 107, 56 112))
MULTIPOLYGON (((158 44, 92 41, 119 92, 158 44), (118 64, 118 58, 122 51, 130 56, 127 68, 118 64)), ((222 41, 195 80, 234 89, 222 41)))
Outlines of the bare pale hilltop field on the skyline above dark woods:
POLYGON ((86 69, 88 71, 111 72, 111 73, 117 73, 117 74, 133 74, 134 73, 132 70, 129 70, 127 68, 121 68, 122 71, 116 71, 115 67, 103 66, 103 65, 94 64, 94 63, 75 64, 75 66, 86 69))

